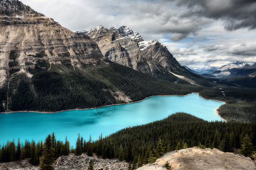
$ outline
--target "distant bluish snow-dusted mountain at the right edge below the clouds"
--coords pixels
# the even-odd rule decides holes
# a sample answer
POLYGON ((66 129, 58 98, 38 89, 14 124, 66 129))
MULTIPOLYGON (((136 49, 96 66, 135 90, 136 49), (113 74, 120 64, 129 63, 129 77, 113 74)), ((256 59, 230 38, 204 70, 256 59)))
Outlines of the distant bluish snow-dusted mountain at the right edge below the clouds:
POLYGON ((232 62, 228 65, 219 67, 219 69, 209 73, 209 76, 217 78, 228 78, 231 76, 249 75, 256 71, 256 62, 232 62))

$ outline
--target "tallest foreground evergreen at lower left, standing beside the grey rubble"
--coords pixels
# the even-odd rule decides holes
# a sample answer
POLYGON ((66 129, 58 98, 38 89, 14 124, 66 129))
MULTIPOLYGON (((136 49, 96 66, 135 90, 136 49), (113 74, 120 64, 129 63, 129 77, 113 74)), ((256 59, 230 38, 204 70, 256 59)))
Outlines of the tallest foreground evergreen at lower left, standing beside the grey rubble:
POLYGON ((54 162, 54 153, 52 148, 52 138, 51 134, 48 135, 48 137, 45 139, 44 142, 44 150, 43 150, 43 156, 41 158, 41 165, 40 170, 51 170, 54 169, 53 162, 54 162))

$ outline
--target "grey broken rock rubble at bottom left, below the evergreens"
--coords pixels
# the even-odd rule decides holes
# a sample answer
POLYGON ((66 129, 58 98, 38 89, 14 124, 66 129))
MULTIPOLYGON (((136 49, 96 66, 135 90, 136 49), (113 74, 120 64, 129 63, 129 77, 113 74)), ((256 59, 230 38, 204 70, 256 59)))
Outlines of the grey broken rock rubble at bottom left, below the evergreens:
MULTIPOLYGON (((128 169, 129 164, 127 162, 120 162, 116 159, 102 159, 97 158, 96 155, 94 156, 88 156, 86 154, 82 154, 79 156, 75 156, 74 154, 70 154, 68 156, 60 156, 55 162, 54 162, 54 168, 56 170, 66 169, 76 169, 76 170, 82 170, 87 169, 90 160, 93 160, 94 163, 94 169, 95 170, 103 170, 103 169, 116 169, 116 170, 125 170, 128 169)), ((10 162, 10 163, 0 163, 0 169, 39 169, 39 166, 33 166, 28 162, 28 159, 22 160, 21 162, 10 162)))

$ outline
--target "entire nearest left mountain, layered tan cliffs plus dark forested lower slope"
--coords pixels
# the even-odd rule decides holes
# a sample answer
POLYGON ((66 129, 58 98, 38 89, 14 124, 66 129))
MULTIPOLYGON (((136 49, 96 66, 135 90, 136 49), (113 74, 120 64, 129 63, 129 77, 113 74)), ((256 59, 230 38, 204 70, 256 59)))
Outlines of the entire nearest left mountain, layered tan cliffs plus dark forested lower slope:
POLYGON ((74 33, 23 3, 1 1, 0 112, 100 107, 203 87, 153 78, 105 58, 74 33))

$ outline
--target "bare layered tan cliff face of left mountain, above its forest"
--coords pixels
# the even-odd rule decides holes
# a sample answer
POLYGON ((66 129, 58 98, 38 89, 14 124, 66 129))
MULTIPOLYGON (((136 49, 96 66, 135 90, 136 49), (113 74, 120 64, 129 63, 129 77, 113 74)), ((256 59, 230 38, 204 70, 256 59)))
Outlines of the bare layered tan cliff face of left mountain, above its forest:
POLYGON ((18 0, 0 2, 0 86, 10 70, 26 72, 38 59, 72 65, 104 59, 96 43, 74 33, 18 0))

